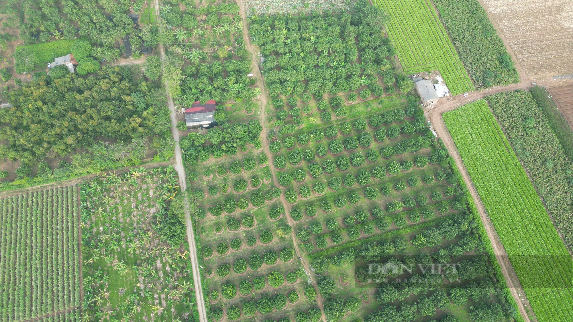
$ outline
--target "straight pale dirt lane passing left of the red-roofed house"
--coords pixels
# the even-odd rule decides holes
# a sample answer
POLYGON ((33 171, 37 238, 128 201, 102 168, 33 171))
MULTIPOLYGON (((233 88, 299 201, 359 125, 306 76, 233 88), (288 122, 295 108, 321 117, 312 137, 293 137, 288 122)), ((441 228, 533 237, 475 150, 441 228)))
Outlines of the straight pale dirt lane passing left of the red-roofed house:
MULTIPOLYGON (((155 13, 157 17, 159 14, 159 0, 155 0, 155 13)), ((161 60, 165 59, 165 48, 162 44, 158 45, 159 57, 161 60)), ((166 84, 167 80, 163 80, 166 84)), ((175 171, 179 176, 179 185, 181 187, 181 193, 185 193, 187 190, 187 178, 185 175, 185 167, 183 167, 183 158, 181 153, 181 147, 179 146, 179 130, 177 129, 177 117, 175 112, 175 105, 173 104, 173 99, 171 94, 167 92, 167 105, 171 111, 171 132, 173 139, 175 140, 175 171)), ((189 211, 189 199, 184 198, 184 211, 185 211, 185 225, 187 226, 187 241, 189 241, 189 257, 191 260, 191 270, 193 270, 193 282, 195 285, 195 298, 197 300, 197 311, 199 312, 199 321, 207 322, 207 311, 205 309, 205 298, 203 297, 203 288, 201 285, 201 271, 199 270, 199 261, 197 260, 197 245, 195 245, 195 235, 193 233, 193 223, 191 222, 191 213, 189 211)))

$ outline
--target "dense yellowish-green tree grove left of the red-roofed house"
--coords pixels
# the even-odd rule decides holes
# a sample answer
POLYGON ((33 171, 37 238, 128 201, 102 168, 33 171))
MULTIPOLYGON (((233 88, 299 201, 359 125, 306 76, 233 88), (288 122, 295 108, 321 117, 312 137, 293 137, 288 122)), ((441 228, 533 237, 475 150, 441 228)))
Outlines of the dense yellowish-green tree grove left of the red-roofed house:
POLYGON ((117 66, 89 77, 41 77, 11 91, 14 106, 0 111, 0 138, 8 142, 0 157, 34 163, 91 147, 98 137, 128 141, 163 134, 170 124, 162 96, 117 66))

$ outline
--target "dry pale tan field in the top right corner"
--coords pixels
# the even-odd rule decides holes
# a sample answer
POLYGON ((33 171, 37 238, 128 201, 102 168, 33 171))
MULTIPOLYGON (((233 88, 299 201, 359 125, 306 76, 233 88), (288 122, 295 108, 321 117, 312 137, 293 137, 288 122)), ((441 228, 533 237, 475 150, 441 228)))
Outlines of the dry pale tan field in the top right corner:
POLYGON ((483 0, 528 76, 573 73, 571 0, 483 0))

